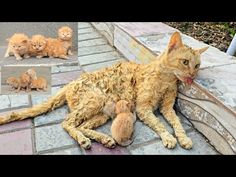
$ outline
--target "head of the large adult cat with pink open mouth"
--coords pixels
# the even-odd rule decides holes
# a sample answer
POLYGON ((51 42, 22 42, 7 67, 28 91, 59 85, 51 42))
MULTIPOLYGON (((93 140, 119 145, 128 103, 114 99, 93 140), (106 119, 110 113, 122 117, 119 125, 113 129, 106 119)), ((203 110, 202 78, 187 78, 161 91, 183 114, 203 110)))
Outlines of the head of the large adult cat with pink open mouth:
POLYGON ((166 50, 165 67, 171 69, 179 80, 192 84, 200 68, 200 55, 207 49, 192 49, 184 45, 180 33, 175 32, 166 50))

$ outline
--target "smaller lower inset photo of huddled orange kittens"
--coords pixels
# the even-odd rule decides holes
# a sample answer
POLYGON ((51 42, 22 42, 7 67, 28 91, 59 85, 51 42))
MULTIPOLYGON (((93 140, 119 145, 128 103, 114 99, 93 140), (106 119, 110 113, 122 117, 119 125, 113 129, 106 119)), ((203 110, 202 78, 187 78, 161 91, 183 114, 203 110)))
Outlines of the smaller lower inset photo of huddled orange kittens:
POLYGON ((51 94, 51 67, 2 66, 1 94, 51 94))

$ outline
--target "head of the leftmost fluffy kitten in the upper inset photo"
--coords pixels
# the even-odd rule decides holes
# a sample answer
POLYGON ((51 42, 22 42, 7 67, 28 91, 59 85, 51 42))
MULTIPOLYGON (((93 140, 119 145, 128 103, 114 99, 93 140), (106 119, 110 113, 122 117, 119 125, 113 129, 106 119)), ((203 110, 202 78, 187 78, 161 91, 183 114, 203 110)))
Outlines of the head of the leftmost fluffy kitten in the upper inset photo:
POLYGON ((29 38, 23 33, 15 33, 11 38, 7 39, 11 49, 20 52, 28 49, 29 38))

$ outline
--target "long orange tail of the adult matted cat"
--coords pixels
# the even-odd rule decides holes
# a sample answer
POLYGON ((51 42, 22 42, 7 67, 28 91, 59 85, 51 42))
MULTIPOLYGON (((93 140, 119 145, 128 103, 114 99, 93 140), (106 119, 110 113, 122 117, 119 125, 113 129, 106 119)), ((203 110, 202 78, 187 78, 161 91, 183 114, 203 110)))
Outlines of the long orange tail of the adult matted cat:
POLYGON ((66 102, 66 89, 66 86, 63 87, 55 96, 50 97, 47 101, 41 104, 35 105, 31 108, 26 108, 19 112, 11 112, 6 116, 0 116, 0 125, 17 120, 33 118, 62 106, 66 102))

